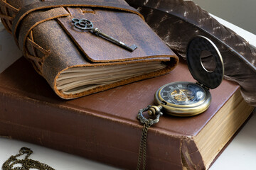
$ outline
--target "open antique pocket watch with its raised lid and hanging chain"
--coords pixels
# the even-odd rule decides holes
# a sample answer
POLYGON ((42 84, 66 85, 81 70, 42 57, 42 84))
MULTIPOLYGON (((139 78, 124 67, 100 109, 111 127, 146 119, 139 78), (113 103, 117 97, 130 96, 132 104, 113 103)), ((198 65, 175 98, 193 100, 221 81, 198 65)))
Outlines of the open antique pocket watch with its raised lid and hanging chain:
POLYGON ((144 128, 139 147, 137 169, 139 169, 142 156, 144 162, 143 169, 145 169, 146 135, 150 126, 158 123, 163 113, 181 117, 203 113, 210 106, 211 96, 209 89, 215 89, 223 80, 223 59, 218 48, 208 38, 197 36, 188 42, 186 60, 188 69, 193 78, 196 79, 196 83, 177 81, 165 84, 156 91, 154 96, 155 103, 158 106, 147 106, 147 108, 139 110, 137 118, 144 124, 144 128), (208 54, 210 52, 210 55, 206 55, 206 52, 208 54), (206 64, 203 64, 203 56, 213 59, 213 62, 210 62, 210 66, 214 66, 214 68, 207 69, 208 67, 204 66, 206 64), (149 115, 154 115, 155 118, 145 118, 142 114, 145 111, 149 115))

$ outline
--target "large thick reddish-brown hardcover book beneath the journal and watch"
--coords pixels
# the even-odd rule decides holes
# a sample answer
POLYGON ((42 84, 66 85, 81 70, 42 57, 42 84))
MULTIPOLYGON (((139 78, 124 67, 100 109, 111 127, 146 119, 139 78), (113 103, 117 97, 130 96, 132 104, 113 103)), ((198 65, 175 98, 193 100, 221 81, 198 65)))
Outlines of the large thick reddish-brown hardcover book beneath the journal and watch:
MULTIPOLYGON (((165 76, 65 101, 24 58, 0 74, 0 135, 136 169, 139 109, 171 81, 193 81, 186 63, 165 76)), ((223 81, 201 115, 164 115, 148 133, 146 169, 208 169, 252 111, 239 86, 223 81)))

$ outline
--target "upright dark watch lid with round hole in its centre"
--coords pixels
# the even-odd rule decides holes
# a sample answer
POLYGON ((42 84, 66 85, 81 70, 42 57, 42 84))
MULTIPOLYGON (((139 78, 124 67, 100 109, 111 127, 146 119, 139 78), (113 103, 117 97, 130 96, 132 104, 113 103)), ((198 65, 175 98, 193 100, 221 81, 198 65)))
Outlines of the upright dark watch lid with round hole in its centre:
POLYGON ((190 42, 186 48, 186 60, 188 62, 188 69, 191 75, 200 84, 206 86, 209 89, 215 89, 223 81, 224 77, 224 64, 223 58, 220 55, 218 47, 206 37, 196 36, 190 42), (210 64, 215 64, 215 69, 213 71, 208 71, 203 66, 202 62, 202 52, 210 52, 213 56, 213 62, 210 64))

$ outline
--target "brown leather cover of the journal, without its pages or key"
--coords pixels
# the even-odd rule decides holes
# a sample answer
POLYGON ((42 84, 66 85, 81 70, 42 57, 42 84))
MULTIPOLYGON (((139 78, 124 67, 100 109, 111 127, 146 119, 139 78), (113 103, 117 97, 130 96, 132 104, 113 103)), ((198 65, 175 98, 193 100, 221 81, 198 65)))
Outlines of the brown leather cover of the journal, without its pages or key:
POLYGON ((178 57, 147 26, 143 16, 123 0, 0 0, 0 5, 1 20, 14 35, 23 55, 62 98, 77 98, 166 74, 178 63, 178 57), (87 18, 102 32, 138 48, 129 52, 92 33, 78 30, 72 18, 87 18), (58 75, 70 67, 154 61, 164 62, 166 67, 79 94, 63 94, 56 88, 58 75))

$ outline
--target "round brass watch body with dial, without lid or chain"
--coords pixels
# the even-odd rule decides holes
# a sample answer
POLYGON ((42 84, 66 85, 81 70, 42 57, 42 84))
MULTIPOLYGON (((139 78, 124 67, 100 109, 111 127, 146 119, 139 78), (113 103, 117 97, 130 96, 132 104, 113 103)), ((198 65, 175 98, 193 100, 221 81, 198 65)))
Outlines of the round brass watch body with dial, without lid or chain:
POLYGON ((164 112, 176 116, 198 115, 210 106, 210 92, 198 84, 178 81, 161 86, 155 101, 164 112))

